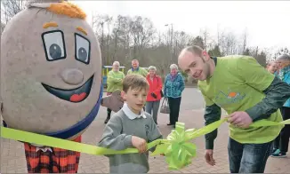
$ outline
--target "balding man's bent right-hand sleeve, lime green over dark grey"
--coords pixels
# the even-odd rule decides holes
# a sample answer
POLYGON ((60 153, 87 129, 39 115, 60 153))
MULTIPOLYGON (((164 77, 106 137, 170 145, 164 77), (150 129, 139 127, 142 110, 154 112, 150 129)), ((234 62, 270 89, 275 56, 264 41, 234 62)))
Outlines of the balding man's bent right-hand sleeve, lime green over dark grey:
POLYGON ((266 94, 254 107, 246 110, 253 121, 261 120, 275 113, 290 97, 290 87, 275 75, 270 74, 256 59, 243 57, 237 61, 237 73, 246 84, 266 94))

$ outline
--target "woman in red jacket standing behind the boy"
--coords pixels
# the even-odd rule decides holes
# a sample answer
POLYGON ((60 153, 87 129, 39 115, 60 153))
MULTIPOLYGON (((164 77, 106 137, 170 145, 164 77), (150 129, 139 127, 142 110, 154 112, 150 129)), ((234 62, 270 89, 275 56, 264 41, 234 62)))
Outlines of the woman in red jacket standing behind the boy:
POLYGON ((157 113, 159 109, 161 91, 162 91, 162 79, 156 75, 157 68, 150 66, 149 74, 146 79, 149 83, 149 92, 147 95, 146 112, 152 115, 154 122, 157 124, 157 113))

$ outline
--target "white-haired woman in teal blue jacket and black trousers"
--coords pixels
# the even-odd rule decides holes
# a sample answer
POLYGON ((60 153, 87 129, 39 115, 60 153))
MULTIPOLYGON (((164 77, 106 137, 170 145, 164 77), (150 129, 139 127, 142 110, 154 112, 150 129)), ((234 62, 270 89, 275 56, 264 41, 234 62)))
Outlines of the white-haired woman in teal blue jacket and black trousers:
POLYGON ((184 90, 184 79, 178 71, 175 64, 170 66, 170 74, 165 77, 164 95, 168 99, 170 108, 170 122, 167 125, 173 125, 178 122, 179 111, 181 107, 181 93, 184 90))

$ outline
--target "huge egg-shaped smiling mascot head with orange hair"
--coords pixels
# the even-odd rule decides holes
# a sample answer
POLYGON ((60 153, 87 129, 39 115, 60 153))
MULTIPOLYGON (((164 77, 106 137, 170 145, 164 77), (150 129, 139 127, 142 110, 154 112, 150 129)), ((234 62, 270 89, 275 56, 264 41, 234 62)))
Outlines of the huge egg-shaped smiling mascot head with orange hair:
POLYGON ((101 51, 85 12, 34 1, 1 38, 2 115, 8 127, 76 138, 101 104, 101 51))

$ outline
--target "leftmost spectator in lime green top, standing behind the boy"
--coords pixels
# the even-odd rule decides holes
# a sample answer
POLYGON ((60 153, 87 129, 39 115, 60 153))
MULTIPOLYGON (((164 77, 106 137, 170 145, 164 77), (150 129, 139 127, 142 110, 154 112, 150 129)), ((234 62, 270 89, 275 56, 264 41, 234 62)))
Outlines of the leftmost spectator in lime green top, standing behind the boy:
MULTIPOLYGON (((120 63, 118 61, 114 61, 112 70, 108 73, 108 88, 107 95, 110 95, 114 91, 122 91, 123 90, 123 79, 125 75, 122 71, 120 71, 120 63)), ((107 108, 107 118, 105 120, 105 124, 109 122, 111 109, 107 108)))

